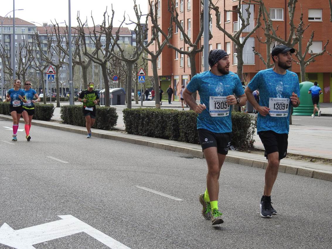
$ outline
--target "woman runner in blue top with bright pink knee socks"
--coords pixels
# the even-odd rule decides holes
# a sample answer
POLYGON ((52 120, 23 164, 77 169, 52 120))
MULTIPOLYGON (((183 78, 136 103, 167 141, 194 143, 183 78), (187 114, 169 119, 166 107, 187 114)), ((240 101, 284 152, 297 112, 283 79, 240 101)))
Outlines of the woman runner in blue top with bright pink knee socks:
POLYGON ((13 139, 17 141, 16 133, 19 128, 19 121, 23 112, 23 103, 27 103, 24 99, 24 92, 21 89, 21 80, 14 80, 14 88, 10 89, 6 95, 6 100, 10 102, 9 112, 13 118, 13 139))

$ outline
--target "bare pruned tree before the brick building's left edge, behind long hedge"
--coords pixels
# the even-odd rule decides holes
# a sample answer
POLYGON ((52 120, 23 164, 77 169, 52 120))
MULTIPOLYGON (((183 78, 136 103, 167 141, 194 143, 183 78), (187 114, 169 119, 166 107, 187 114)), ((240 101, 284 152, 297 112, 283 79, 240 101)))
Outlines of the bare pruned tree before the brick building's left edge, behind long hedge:
MULTIPOLYGON (((164 31, 158 27, 157 3, 155 3, 154 6, 152 6, 151 1, 149 0, 149 6, 150 6, 150 10, 149 10, 149 13, 146 14, 146 15, 142 15, 141 10, 138 10, 137 5, 134 6, 134 11, 135 11, 135 14, 136 14, 136 19, 137 19, 137 23, 136 23, 137 27, 141 27, 139 29, 139 31, 140 31, 139 37, 141 37, 140 46, 150 56, 150 58, 146 58, 146 57, 143 57, 143 58, 145 60, 151 61, 151 63, 152 63, 152 72, 153 72, 153 78, 154 78, 154 89, 155 89, 155 92, 156 92, 156 94, 155 94, 155 106, 156 106, 156 108, 160 108, 159 93, 157 92, 158 89, 159 89, 159 77, 158 77, 158 71, 157 71, 157 60, 158 60, 158 57, 160 56, 163 48, 167 45, 167 40, 169 40, 172 37, 173 19, 171 17, 170 25, 169 25, 167 34, 164 33, 164 31), (148 23, 149 18, 151 19, 151 22, 152 22, 152 37, 151 37, 151 40, 145 45, 144 45, 143 41, 147 39, 148 29, 145 29, 145 30, 142 29, 142 26, 141 26, 141 23, 140 23, 140 18, 142 16, 146 16, 145 27, 147 27, 147 23, 148 23), (162 42, 159 40, 159 34, 158 34, 159 32, 165 38, 164 41, 162 41, 162 42), (154 41, 157 43, 157 48, 156 48, 156 51, 153 51, 153 50, 151 51, 149 46, 151 44, 153 44, 154 41)), ((137 35, 136 35, 136 37, 137 37, 137 35)))

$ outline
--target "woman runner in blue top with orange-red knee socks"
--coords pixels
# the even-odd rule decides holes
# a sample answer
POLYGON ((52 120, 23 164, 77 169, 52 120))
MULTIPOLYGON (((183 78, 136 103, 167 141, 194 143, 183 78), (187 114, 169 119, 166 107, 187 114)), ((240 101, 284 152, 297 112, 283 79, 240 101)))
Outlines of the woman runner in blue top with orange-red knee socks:
POLYGON ((27 103, 23 103, 23 118, 24 121, 26 121, 25 125, 24 125, 24 129, 25 129, 25 133, 26 133, 26 138, 28 141, 30 141, 31 136, 30 136, 30 129, 31 129, 31 121, 32 121, 32 117, 35 114, 35 103, 36 102, 40 102, 41 99, 38 97, 37 92, 31 88, 31 81, 30 80, 26 80, 24 82, 24 88, 25 90, 25 99, 27 100, 27 103), (34 100, 34 97, 36 98, 36 100, 34 100), (28 117, 26 117, 28 116, 28 117))

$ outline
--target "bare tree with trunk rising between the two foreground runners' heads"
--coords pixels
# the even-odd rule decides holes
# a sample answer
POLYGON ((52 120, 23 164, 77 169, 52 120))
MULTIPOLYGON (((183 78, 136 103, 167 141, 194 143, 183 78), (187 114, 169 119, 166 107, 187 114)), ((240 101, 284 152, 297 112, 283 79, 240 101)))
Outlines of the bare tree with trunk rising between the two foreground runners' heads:
MULTIPOLYGON (((216 16, 216 27, 223 32, 233 43, 236 45, 236 53, 237 53, 237 75, 240 77, 242 80, 243 75, 243 48, 249 37, 251 37, 252 34, 255 33, 255 31, 261 26, 261 16, 262 16, 262 10, 261 6, 259 5, 258 1, 254 0, 249 0, 248 2, 248 7, 245 9, 245 13, 242 8, 242 0, 239 0, 238 7, 236 10, 225 10, 226 12, 234 12, 238 14, 238 17, 241 21, 241 26, 239 27, 239 30, 235 34, 230 34, 228 33, 224 28, 221 27, 220 25, 220 18, 219 18, 219 7, 215 6, 212 0, 210 1, 210 8, 215 11, 215 16, 216 16), (255 6, 258 6, 258 17, 256 19, 256 25, 252 27, 252 29, 246 34, 246 36, 242 36, 243 31, 246 30, 247 27, 251 27, 251 15, 253 13, 250 12, 250 4, 254 4, 255 6)), ((253 19, 252 19, 253 20, 253 19)))

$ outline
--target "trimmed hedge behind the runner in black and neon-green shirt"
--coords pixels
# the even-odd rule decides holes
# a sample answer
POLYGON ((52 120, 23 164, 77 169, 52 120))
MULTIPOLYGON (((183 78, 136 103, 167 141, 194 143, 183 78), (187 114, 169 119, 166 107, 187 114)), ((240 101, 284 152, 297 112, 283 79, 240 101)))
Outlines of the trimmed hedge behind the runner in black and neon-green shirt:
MULTIPOLYGON (((82 112, 83 105, 61 106, 60 114, 62 123, 85 127, 85 117, 82 112)), ((109 130, 113 128, 118 121, 119 115, 114 107, 96 106, 96 122, 93 128, 109 130)))

